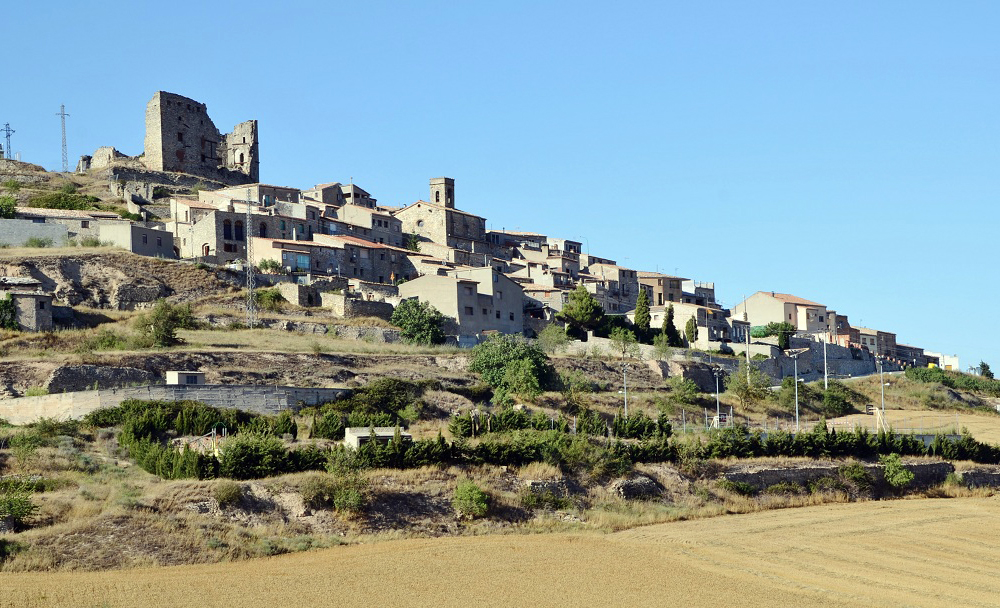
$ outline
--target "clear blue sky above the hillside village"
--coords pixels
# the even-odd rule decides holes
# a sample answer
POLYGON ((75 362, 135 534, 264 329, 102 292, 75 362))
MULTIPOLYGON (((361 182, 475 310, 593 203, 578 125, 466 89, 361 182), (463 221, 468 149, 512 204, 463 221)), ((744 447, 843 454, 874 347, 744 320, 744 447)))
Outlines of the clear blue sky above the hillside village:
POLYGON ((142 151, 156 90, 256 118, 261 178, 388 205, 456 179, 727 306, 793 293, 1000 366, 996 2, 57 2, 3 14, 0 124, 142 151), (153 8, 155 6, 155 8, 153 8), (970 315, 971 319, 970 320, 970 315))

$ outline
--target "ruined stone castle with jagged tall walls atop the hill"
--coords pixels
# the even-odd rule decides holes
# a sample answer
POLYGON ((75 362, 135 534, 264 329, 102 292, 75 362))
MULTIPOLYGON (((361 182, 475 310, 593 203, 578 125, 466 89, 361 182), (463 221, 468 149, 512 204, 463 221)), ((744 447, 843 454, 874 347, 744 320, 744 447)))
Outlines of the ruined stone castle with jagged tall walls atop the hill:
POLYGON ((98 148, 83 156, 77 171, 104 168, 147 169, 184 173, 228 185, 260 180, 257 121, 241 122, 221 133, 205 104, 157 91, 146 104, 145 151, 127 156, 115 148, 98 148))

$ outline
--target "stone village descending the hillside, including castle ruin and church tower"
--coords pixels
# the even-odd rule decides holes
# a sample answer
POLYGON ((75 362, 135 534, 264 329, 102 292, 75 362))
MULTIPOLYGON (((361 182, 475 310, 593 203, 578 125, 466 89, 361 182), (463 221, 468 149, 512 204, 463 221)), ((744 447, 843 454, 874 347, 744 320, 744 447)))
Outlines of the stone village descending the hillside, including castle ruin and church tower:
MULTIPOLYGON (((672 313, 684 346, 770 361, 766 371, 775 378, 790 375, 792 365, 765 331, 778 324, 794 334, 791 346, 811 351, 798 362, 806 376, 959 369, 957 357, 904 344, 889 328, 854 326, 846 311, 805 297, 764 290, 727 309, 714 283, 626 268, 560 235, 487 230, 477 210, 461 208, 451 177, 431 178, 427 200, 404 206, 380 205, 353 182, 259 183, 257 122, 222 133, 205 104, 187 97, 155 93, 145 126, 143 154, 102 147, 77 166, 79 175, 105 179, 127 213, 19 202, 14 219, 0 226, 0 241, 91 239, 248 270, 259 284, 283 285, 296 304, 332 306, 342 316, 388 319, 402 300, 417 298, 445 316, 444 331, 460 346, 497 332, 533 337, 558 322, 582 288, 606 314, 630 321, 644 292, 651 327, 672 313), (328 297, 334 292, 338 298, 328 297)), ((15 173, 20 164, 0 162, 15 173)), ((9 278, 0 287, 18 301, 24 329, 45 329, 52 295, 25 281, 9 278)))

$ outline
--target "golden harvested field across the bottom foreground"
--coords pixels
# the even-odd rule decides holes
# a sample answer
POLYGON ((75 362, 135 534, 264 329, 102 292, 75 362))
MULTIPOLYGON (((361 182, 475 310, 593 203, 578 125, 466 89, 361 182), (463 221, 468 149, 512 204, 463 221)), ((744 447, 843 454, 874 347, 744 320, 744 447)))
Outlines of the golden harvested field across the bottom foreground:
POLYGON ((0 606, 995 606, 996 498, 617 534, 386 541, 240 563, 0 574, 0 606))

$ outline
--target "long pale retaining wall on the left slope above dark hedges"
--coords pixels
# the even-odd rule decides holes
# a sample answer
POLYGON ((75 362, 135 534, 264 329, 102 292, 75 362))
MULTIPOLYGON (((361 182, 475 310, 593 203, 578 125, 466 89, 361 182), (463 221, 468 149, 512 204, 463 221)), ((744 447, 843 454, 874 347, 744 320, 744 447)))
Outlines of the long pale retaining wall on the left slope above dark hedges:
POLYGON ((262 385, 150 385, 98 391, 20 397, 0 401, 0 418, 12 424, 28 424, 39 418, 82 418, 102 407, 115 407, 126 399, 201 401, 214 407, 241 409, 258 414, 276 414, 301 405, 320 405, 351 393, 341 388, 296 388, 262 385))

